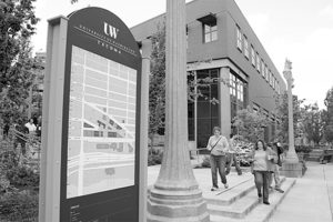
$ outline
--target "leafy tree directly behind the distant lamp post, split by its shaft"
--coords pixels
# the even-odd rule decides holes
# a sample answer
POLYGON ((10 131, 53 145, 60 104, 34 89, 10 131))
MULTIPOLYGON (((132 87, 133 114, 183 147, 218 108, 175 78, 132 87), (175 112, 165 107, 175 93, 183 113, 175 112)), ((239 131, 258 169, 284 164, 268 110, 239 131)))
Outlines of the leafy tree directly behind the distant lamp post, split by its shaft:
MULTIPOLYGON (((294 134, 302 134, 300 131, 301 128, 297 124, 301 122, 302 109, 301 105, 304 100, 299 100, 296 95, 293 95, 293 125, 294 125, 294 134)), ((281 141, 283 143, 289 142, 289 109, 287 109, 287 92, 285 91, 283 94, 280 94, 275 99, 276 107, 276 118, 279 124, 276 125, 276 134, 275 140, 281 141)))

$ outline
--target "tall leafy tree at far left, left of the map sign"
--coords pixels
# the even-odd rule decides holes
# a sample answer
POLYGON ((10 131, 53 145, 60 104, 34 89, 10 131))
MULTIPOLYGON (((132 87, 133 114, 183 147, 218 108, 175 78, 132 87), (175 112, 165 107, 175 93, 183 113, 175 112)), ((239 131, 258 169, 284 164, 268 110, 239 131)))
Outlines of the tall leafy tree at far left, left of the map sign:
POLYGON ((7 0, 0 3, 0 118, 19 121, 27 109, 29 88, 34 79, 30 37, 38 19, 36 0, 7 0))

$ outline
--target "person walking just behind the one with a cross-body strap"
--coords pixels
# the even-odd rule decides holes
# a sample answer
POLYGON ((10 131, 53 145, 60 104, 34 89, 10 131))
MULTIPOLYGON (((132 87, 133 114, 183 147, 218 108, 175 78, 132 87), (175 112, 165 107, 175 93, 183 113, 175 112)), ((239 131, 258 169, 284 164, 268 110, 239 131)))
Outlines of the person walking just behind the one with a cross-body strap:
POLYGON ((236 169, 238 174, 239 175, 242 174, 242 170, 239 164, 238 157, 236 157, 239 150, 241 149, 239 147, 239 139, 240 138, 236 134, 230 134, 230 140, 229 140, 229 150, 230 151, 228 153, 228 163, 226 163, 226 170, 225 170, 226 175, 230 173, 232 162, 236 169))

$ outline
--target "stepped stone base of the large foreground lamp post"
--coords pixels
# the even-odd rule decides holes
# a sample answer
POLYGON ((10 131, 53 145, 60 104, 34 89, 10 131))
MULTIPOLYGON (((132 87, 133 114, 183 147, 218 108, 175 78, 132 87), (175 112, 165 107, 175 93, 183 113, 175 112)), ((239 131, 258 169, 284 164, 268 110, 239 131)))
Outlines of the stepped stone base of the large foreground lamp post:
POLYGON ((148 199, 148 222, 209 222, 202 192, 152 188, 148 199))

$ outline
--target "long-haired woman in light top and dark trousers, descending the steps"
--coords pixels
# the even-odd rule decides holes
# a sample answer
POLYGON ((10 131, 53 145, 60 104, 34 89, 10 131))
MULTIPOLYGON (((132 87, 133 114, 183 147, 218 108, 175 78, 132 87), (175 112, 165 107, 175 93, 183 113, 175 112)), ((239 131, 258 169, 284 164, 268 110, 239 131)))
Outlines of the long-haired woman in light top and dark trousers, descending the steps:
POLYGON ((262 140, 258 140, 254 150, 251 152, 251 158, 258 196, 263 198, 263 203, 269 205, 270 174, 274 171, 274 162, 278 162, 278 155, 262 140))

